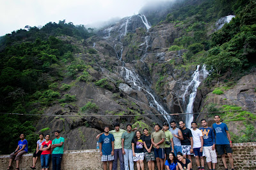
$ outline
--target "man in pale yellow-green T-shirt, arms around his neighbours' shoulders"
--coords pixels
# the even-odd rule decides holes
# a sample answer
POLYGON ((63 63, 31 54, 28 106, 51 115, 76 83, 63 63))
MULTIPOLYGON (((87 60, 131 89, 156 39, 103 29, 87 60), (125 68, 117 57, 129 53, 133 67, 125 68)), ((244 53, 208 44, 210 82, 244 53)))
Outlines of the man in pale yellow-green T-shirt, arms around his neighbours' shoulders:
MULTIPOLYGON (((114 124, 115 129, 112 131, 109 131, 110 134, 113 134, 114 139, 115 139, 115 147, 114 147, 114 161, 113 161, 113 170, 117 169, 117 160, 119 157, 119 161, 120 161, 120 170, 124 170, 124 155, 122 153, 122 134, 124 132, 126 132, 124 129, 120 129, 120 124, 119 123, 115 123, 114 124)), ((98 134, 96 136, 97 139, 99 139, 100 135, 98 134)))

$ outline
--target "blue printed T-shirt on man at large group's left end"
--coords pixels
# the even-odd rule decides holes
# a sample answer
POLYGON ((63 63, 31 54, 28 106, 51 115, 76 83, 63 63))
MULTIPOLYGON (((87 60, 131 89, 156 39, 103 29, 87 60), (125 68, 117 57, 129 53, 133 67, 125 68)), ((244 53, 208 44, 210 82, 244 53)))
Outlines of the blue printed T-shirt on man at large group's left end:
POLYGON ((99 143, 102 143, 102 155, 111 155, 113 141, 115 141, 113 134, 100 135, 99 143))

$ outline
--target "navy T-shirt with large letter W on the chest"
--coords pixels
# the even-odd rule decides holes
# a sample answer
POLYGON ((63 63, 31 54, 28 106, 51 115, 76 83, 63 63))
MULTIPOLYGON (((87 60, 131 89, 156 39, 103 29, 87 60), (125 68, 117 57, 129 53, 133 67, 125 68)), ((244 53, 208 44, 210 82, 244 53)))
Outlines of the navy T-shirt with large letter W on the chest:
POLYGON ((203 134, 204 146, 212 146, 213 144, 215 144, 215 135, 211 127, 200 127, 199 129, 202 131, 203 134))

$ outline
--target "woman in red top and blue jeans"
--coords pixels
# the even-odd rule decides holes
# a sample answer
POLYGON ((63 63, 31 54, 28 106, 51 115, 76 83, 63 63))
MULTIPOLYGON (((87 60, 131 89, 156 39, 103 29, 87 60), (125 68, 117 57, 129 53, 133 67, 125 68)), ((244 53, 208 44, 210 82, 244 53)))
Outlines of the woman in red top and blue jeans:
POLYGON ((48 170, 49 169, 49 164, 50 164, 50 160, 51 160, 51 145, 52 145, 52 141, 50 141, 50 135, 47 134, 45 136, 45 141, 42 143, 40 151, 42 151, 41 153, 41 167, 42 170, 48 170))

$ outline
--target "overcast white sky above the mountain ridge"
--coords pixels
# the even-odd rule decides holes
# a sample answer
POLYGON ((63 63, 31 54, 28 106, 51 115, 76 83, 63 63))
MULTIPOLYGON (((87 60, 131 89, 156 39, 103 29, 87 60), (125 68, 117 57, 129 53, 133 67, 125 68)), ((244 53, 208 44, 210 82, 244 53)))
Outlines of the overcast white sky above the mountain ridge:
MULTIPOLYGON (((12 31, 66 20, 74 25, 127 17, 152 0, 1 0, 0 36, 12 31)), ((161 1, 161 0, 154 0, 161 1)))

